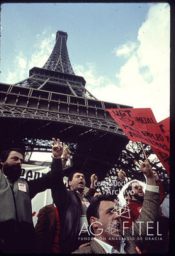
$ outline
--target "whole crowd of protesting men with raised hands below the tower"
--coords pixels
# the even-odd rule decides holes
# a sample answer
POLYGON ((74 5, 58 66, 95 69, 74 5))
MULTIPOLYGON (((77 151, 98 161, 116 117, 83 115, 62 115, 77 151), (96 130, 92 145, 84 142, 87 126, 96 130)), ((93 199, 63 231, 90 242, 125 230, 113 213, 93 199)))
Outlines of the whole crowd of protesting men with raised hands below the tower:
POLYGON ((30 181, 21 178, 24 153, 11 148, 1 153, 0 251, 2 253, 166 253, 169 251, 169 186, 159 179, 148 160, 139 180, 127 183, 120 170, 111 191, 126 186, 120 202, 117 193, 96 191, 98 177, 86 180, 82 170, 72 172, 64 184, 63 168, 69 147, 52 138, 51 171, 30 181), (124 182, 122 182, 124 181, 124 182), (52 204, 40 209, 32 222, 31 199, 51 189, 52 204))

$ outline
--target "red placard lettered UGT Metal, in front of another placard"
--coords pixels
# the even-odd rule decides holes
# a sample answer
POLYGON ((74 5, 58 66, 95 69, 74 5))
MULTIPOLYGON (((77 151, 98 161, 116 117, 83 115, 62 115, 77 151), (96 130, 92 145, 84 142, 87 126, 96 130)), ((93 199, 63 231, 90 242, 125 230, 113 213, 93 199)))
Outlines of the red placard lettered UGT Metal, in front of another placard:
POLYGON ((169 154, 169 143, 151 109, 106 109, 132 142, 143 142, 169 154))

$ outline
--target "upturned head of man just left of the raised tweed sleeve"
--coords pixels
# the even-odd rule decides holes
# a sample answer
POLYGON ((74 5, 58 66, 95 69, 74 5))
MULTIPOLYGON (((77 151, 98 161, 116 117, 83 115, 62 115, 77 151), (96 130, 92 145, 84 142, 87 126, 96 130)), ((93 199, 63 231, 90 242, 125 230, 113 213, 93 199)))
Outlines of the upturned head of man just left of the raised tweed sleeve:
POLYGON ((137 200, 143 203, 144 199, 144 192, 143 192, 143 186, 140 185, 139 182, 133 181, 128 185, 124 192, 125 197, 129 196, 129 200, 137 200))

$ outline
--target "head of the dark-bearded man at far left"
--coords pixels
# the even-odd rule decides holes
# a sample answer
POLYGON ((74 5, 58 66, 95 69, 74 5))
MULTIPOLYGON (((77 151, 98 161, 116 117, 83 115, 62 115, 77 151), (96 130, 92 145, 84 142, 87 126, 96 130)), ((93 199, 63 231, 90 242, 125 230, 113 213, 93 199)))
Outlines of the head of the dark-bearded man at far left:
POLYGON ((16 181, 21 175, 23 157, 23 151, 18 148, 10 148, 0 155, 1 170, 12 182, 16 181))

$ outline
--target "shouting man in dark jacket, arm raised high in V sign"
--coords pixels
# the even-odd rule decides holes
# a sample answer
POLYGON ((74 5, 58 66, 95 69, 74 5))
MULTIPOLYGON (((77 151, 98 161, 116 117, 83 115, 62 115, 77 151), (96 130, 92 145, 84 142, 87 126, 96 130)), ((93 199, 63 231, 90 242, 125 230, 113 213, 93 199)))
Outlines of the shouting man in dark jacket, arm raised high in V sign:
MULTIPOLYGON (((54 146, 52 147, 52 199, 58 210, 60 220, 59 230, 59 245, 60 253, 71 253, 75 251, 80 244, 84 244, 89 237, 87 229, 82 230, 82 227, 87 227, 86 211, 93 195, 95 194, 95 180, 97 176, 91 175, 91 185, 93 191, 89 192, 88 196, 84 193, 86 181, 84 173, 81 170, 76 170, 68 177, 69 189, 66 188, 63 181, 62 145, 60 140, 52 138, 54 146), (92 177, 93 176, 93 177, 92 177), (81 235, 78 235, 81 233, 81 235)), ((58 239, 57 239, 58 240, 58 239)), ((58 241, 57 241, 58 242, 58 241)))

